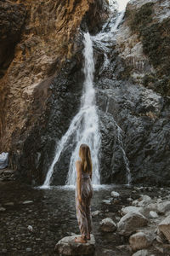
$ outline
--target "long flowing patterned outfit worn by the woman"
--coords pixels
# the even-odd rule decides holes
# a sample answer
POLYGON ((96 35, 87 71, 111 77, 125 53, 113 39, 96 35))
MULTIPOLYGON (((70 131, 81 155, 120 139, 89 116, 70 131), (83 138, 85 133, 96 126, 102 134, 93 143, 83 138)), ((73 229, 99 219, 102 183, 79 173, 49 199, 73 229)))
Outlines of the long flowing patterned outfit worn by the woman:
POLYGON ((88 236, 92 231, 91 199, 93 196, 93 187, 88 173, 82 172, 82 202, 78 201, 76 188, 76 209, 79 230, 82 236, 88 236))

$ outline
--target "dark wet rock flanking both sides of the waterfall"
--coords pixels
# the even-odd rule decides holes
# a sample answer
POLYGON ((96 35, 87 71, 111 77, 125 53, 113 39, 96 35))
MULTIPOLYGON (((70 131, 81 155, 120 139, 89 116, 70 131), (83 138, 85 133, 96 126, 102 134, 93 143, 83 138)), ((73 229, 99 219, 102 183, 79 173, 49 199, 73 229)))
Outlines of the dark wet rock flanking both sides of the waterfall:
MULTIPOLYGON (((94 14, 94 9, 91 12, 94 14)), ((81 27, 83 30, 89 27, 90 32, 96 33, 100 29, 100 18, 97 16, 94 20, 93 28, 89 25, 93 20, 92 13, 85 15, 81 27)), ((35 119, 29 135, 25 137, 23 130, 20 140, 13 137, 11 166, 18 170, 25 182, 43 183, 54 159, 55 147, 80 107, 84 79, 81 32, 77 45, 59 73, 53 79, 44 80, 34 91, 38 106, 42 106, 42 101, 47 101, 47 98, 48 102, 47 108, 43 108, 35 119), (46 93, 41 96, 41 89, 49 97, 46 93)), ((169 98, 133 81, 114 40, 110 45, 110 64, 107 67, 104 67, 104 52, 97 45, 94 48, 94 86, 101 133, 101 183, 127 183, 129 168, 132 183, 170 185, 169 98)), ((73 148, 72 138, 67 145, 54 166, 52 184, 65 184, 73 148)))

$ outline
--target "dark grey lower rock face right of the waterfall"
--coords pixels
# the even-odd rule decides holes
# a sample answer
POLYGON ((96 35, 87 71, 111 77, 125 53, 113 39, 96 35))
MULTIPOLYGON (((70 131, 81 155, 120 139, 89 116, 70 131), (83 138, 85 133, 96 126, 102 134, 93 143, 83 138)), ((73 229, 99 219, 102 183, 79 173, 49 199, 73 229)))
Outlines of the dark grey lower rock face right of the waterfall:
MULTIPOLYGON (((101 56, 96 58, 96 67, 98 61, 101 56)), ((96 71, 102 183, 127 183, 127 160, 132 183, 169 185, 169 100, 130 80, 121 80, 122 65, 115 52, 110 72, 101 71, 102 65, 96 71)))

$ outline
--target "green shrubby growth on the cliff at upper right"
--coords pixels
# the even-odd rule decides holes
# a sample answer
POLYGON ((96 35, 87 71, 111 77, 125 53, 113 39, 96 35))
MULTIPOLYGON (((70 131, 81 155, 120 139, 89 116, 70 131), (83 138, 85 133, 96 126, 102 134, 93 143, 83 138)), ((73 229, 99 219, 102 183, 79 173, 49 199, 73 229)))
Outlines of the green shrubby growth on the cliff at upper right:
POLYGON ((152 19, 154 3, 145 3, 139 10, 127 11, 128 25, 139 34, 144 54, 156 74, 145 75, 144 86, 170 96, 170 18, 161 22, 152 19))

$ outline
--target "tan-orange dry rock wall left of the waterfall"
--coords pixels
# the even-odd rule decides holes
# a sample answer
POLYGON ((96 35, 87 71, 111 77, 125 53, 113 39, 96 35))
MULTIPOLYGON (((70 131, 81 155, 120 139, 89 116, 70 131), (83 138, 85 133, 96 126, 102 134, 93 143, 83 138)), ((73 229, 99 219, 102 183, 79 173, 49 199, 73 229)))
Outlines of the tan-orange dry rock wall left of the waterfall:
MULTIPOLYGON (((2 4, 7 6, 7 3, 2 4)), ((105 12, 98 12, 94 0, 8 1, 8 8, 4 9, 2 17, 8 17, 9 27, 2 24, 7 28, 3 37, 7 37, 7 42, 10 38, 13 38, 14 44, 19 39, 20 42, 11 56, 6 55, 0 44, 6 62, 10 57, 10 66, 8 69, 3 67, 3 77, 0 75, 0 152, 8 152, 11 143, 20 141, 20 136, 20 143, 23 143, 23 138, 26 139, 44 113, 50 96, 49 84, 65 60, 71 59, 77 51, 78 29, 89 10, 93 25, 96 19, 105 18, 105 12), (14 18, 11 9, 14 9, 14 18), (23 13, 27 14, 25 26, 23 13), (16 27, 16 24, 19 26, 16 27), (8 31, 12 32, 11 35, 8 31)), ((3 60, 1 54, 0 59, 3 60)))

